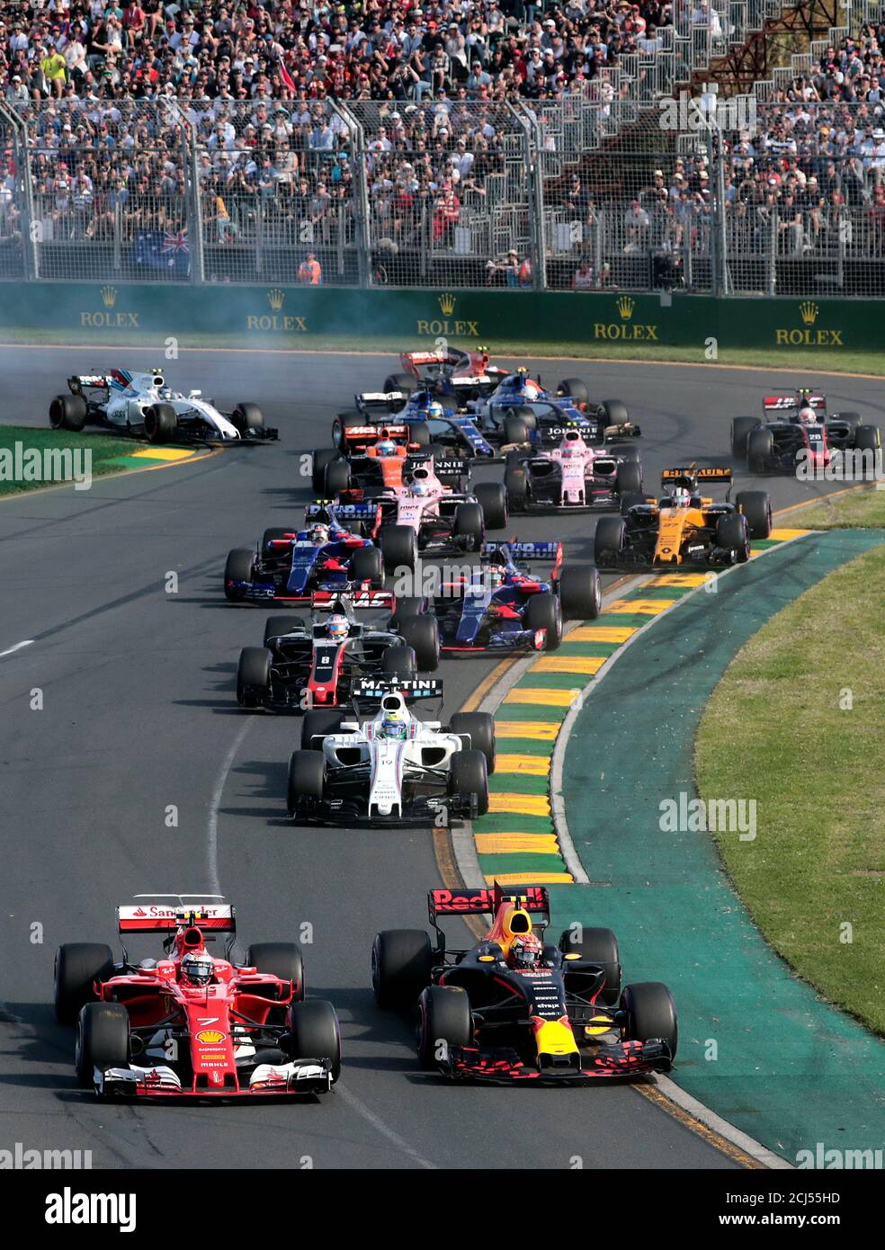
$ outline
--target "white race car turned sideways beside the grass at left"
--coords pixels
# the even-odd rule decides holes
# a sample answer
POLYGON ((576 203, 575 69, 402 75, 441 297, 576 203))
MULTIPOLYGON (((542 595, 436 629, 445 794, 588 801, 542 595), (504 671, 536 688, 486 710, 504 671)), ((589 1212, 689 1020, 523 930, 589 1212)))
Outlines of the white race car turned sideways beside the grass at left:
POLYGON ((54 430, 82 430, 104 425, 118 434, 150 442, 262 442, 279 438, 268 429, 258 404, 238 404, 221 412, 202 391, 185 395, 166 386, 162 371, 80 374, 68 379, 70 395, 56 395, 49 405, 54 430))

